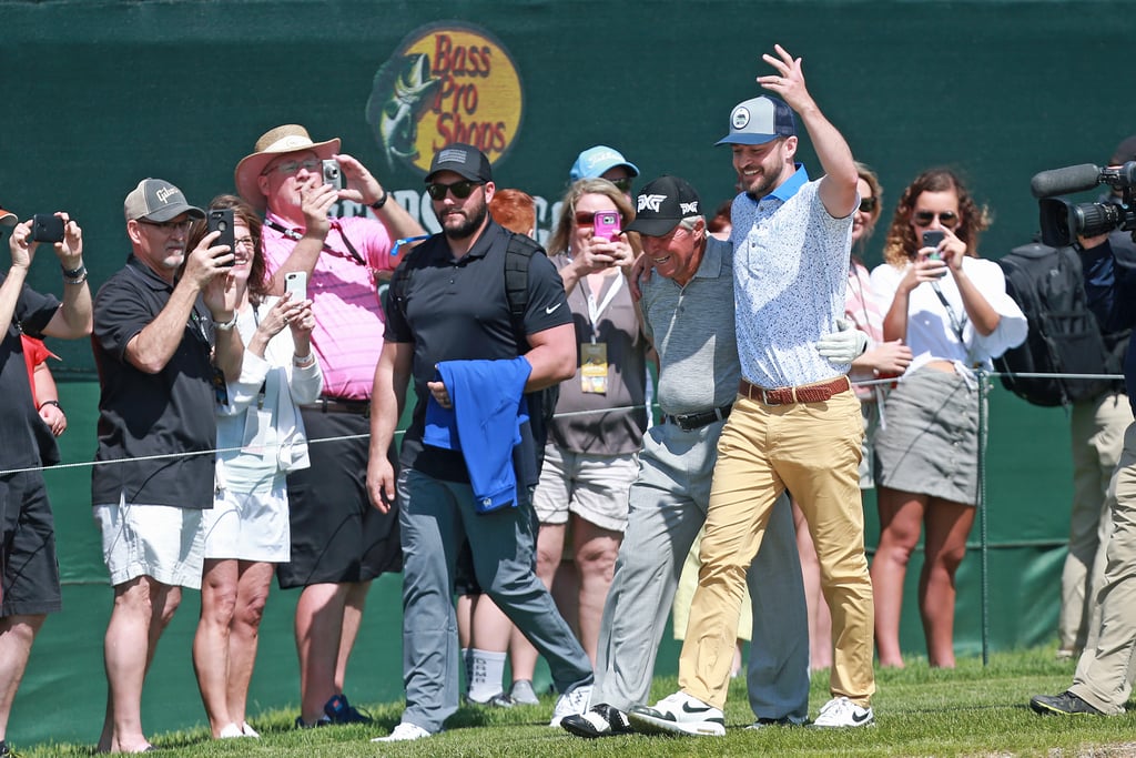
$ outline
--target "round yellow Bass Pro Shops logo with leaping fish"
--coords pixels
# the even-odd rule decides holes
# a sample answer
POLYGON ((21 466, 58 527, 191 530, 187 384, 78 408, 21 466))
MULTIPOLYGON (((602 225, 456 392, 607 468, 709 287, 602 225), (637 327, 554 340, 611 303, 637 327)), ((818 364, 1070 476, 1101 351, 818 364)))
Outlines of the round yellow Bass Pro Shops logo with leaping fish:
POLYGON ((411 32, 379 67, 367 123, 389 169, 425 174, 434 153, 454 142, 495 164, 517 139, 523 100, 517 67, 496 39, 441 23, 411 32))

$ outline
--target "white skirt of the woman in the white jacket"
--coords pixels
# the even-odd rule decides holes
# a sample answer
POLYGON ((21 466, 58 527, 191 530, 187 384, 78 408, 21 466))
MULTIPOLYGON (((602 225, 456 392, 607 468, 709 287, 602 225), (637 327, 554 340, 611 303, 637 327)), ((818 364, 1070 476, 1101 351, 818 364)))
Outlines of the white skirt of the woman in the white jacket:
POLYGON ((222 490, 214 507, 204 511, 206 558, 259 560, 285 564, 291 560, 287 489, 281 484, 269 492, 222 490))

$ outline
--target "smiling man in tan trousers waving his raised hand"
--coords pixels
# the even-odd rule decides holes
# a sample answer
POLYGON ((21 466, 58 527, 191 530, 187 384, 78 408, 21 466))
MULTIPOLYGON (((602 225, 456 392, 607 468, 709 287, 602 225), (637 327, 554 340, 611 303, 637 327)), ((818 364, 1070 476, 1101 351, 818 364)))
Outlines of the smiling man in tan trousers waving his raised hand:
POLYGON ((847 143, 805 88, 801 59, 780 45, 775 51, 762 56, 775 73, 758 83, 784 100, 738 103, 719 141, 730 145, 743 189, 732 208, 742 380, 718 444, 679 691, 632 709, 630 723, 644 731, 725 734, 745 572, 786 489, 809 524, 833 611, 833 698, 813 725, 874 719, 872 595, 859 490, 863 423, 849 365, 834 366, 818 348, 844 311, 858 175, 847 143), (825 169, 819 181, 794 160, 793 111, 825 169))

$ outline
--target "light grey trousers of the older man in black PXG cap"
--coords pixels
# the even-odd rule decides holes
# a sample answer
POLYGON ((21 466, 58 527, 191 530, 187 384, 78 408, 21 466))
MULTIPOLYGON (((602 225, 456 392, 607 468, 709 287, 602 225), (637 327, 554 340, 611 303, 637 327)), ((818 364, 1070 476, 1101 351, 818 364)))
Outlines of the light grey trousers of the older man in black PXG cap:
MULTIPOLYGON (((592 702, 648 702, 655 656, 683 570, 705 522, 725 422, 683 432, 658 424, 643 438, 627 531, 603 607, 592 702)), ((793 510, 782 497, 747 574, 753 640, 746 683, 759 718, 809 715, 809 624, 793 510)))

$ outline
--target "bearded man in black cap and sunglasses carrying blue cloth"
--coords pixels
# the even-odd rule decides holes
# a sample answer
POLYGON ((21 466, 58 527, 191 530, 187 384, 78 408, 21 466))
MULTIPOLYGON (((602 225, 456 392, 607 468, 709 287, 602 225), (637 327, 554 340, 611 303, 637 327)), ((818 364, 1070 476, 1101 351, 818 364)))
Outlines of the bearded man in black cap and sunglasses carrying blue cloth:
POLYGON ((452 410, 461 428, 462 415, 471 408, 487 410, 498 401, 502 406, 511 401, 515 408, 521 386, 509 372, 518 366, 519 353, 524 353, 519 381, 525 391, 575 374, 576 332, 563 285, 548 258, 540 252, 532 256, 523 317, 526 351, 513 336, 506 293, 506 250, 515 235, 493 223, 486 211, 494 192, 488 159, 471 145, 449 145, 434 156, 426 183, 442 233, 409 253, 395 272, 391 291, 400 295, 387 302, 385 342, 371 392, 375 410, 367 485, 379 510, 386 510, 394 498, 394 472, 385 452, 411 377, 418 397, 402 441, 398 481, 407 709, 402 722, 379 741, 435 734, 458 709, 460 667, 452 591, 454 561, 466 539, 478 584, 549 661, 562 693, 553 723, 569 713, 583 713, 592 690, 587 656, 533 570, 531 493, 536 466, 528 424, 520 425, 521 442, 516 447, 516 413, 512 426, 490 435, 485 444, 475 444, 468 436, 460 440, 466 449, 476 450, 469 460, 460 450, 424 444, 428 413, 452 410), (491 363, 486 370, 501 370, 502 381, 483 382, 476 392, 463 394, 458 385, 436 381, 436 370, 449 370, 435 368, 443 361, 465 367, 491 363), (509 381, 515 382, 513 393, 502 390, 509 381), (436 403, 429 411, 427 398, 436 403), (498 501, 479 492, 478 464, 500 455, 502 443, 507 469, 511 450, 516 482, 498 501), (482 513, 492 507, 487 501, 502 507, 482 513))

